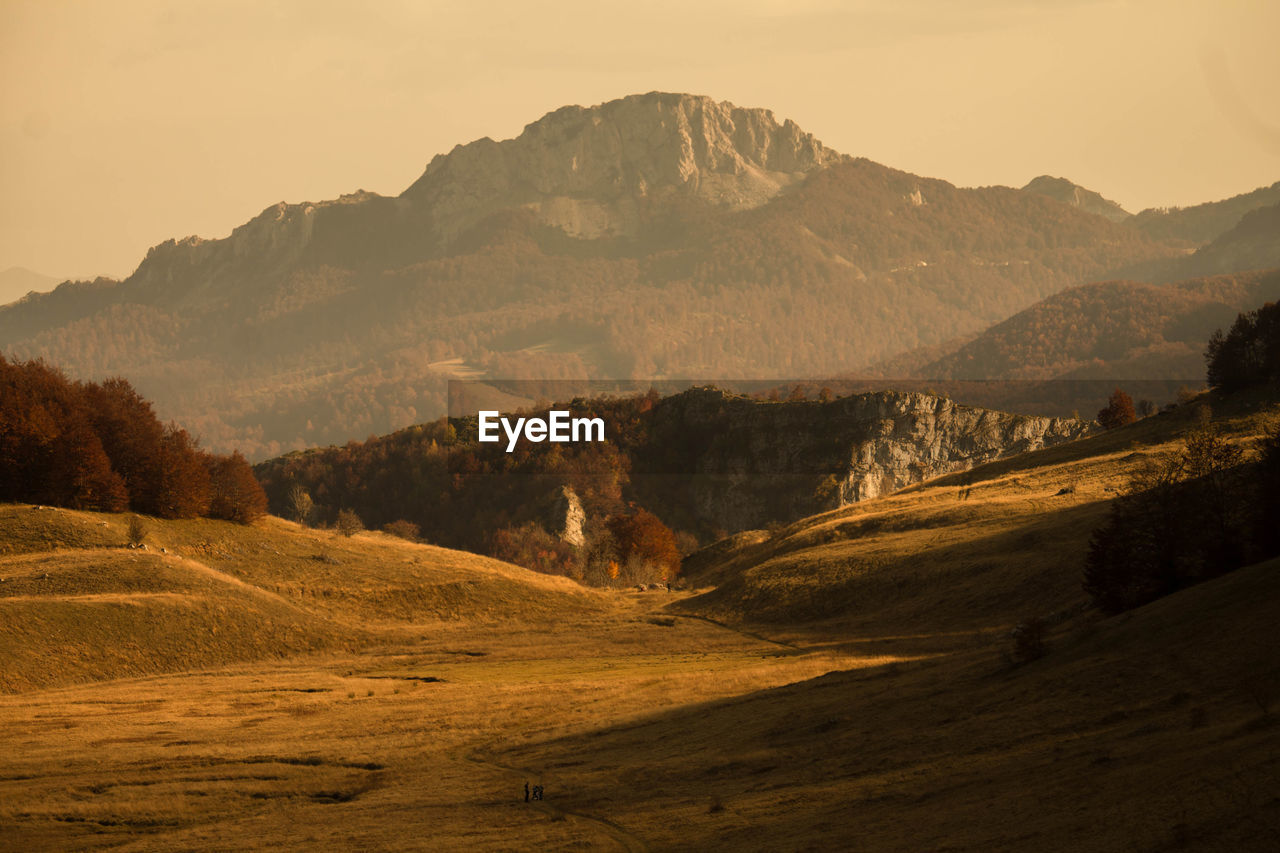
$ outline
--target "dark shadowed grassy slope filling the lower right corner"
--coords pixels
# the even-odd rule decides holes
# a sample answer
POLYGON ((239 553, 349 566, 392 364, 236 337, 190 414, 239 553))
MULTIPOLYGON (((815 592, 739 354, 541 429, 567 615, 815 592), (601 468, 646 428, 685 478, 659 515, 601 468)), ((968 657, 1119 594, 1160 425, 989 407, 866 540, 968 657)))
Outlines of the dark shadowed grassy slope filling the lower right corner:
MULTIPOLYGON (((1272 560, 1076 624, 1023 667, 989 639, 945 637, 969 621, 945 619, 923 635, 951 646, 945 654, 506 760, 563 767, 567 808, 608 815, 652 849, 1271 850, 1277 570, 1272 560)), ((961 589, 933 603, 946 613, 970 599, 961 589)), ((897 652, 914 630, 886 615, 833 647, 897 652)))

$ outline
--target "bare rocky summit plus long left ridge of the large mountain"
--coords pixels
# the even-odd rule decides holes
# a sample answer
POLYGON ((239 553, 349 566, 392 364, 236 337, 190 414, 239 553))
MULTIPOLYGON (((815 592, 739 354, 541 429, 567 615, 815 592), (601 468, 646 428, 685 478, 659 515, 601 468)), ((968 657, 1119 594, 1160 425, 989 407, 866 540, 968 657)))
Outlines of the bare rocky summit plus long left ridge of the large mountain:
POLYGON ((257 277, 271 270, 417 263, 481 219, 520 209, 571 237, 631 234, 662 201, 756 207, 842 159, 769 110, 696 95, 564 106, 516 138, 486 137, 436 155, 398 197, 361 190, 330 201, 282 201, 225 238, 160 243, 133 284, 169 304, 219 304, 239 288, 259 289, 257 277))

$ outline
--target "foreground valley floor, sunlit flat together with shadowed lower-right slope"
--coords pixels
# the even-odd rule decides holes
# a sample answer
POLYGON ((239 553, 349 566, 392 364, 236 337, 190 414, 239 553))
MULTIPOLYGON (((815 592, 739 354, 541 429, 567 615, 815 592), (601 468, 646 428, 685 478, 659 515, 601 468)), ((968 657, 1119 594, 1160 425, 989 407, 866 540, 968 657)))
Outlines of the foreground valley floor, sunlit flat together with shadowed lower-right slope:
POLYGON ((0 848, 1275 849, 1277 584, 1236 573, 1016 669, 980 637, 868 656, 667 624, 646 593, 5 695, 0 848))

